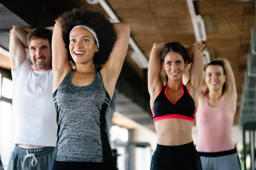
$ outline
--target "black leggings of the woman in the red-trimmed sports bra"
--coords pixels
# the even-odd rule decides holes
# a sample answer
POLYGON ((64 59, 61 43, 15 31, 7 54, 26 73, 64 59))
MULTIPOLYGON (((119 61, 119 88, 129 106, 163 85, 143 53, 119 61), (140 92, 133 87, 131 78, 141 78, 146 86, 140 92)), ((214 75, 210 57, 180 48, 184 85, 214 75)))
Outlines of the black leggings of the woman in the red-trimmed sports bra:
POLYGON ((150 170, 202 170, 202 165, 193 141, 180 146, 157 144, 150 170))

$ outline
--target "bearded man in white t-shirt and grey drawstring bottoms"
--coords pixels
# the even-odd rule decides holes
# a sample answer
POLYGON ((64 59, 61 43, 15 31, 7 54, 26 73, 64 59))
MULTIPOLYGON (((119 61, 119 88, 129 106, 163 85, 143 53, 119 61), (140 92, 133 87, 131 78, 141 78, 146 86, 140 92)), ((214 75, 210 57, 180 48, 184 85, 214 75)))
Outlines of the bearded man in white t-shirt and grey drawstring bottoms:
POLYGON ((49 29, 13 26, 9 33, 15 146, 8 170, 47 170, 51 166, 57 124, 49 29), (26 58, 26 48, 32 66, 26 58))

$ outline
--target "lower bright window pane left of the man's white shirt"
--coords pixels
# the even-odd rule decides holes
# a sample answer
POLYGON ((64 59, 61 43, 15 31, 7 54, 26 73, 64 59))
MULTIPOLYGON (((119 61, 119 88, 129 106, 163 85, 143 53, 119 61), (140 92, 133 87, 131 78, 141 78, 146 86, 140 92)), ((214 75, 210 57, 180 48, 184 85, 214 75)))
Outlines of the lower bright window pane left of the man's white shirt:
POLYGON ((7 167, 14 146, 11 106, 8 102, 0 101, 0 155, 4 167, 7 167))

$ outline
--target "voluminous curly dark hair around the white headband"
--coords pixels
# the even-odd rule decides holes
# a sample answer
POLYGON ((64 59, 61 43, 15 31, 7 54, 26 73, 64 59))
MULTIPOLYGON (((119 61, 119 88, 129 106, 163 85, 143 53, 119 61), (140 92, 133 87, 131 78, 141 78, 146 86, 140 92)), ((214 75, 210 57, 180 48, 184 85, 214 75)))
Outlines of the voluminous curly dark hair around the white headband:
MULTIPOLYGON (((59 15, 60 22, 62 24, 62 37, 65 42, 65 48, 69 51, 69 34, 70 31, 77 25, 85 25, 92 28, 98 39, 100 48, 93 57, 95 69, 99 71, 101 67, 106 63, 110 52, 117 39, 113 24, 106 18, 103 13, 98 11, 92 11, 88 7, 74 8, 71 11, 67 11, 59 15)), ((68 53, 69 60, 74 63, 68 53)))

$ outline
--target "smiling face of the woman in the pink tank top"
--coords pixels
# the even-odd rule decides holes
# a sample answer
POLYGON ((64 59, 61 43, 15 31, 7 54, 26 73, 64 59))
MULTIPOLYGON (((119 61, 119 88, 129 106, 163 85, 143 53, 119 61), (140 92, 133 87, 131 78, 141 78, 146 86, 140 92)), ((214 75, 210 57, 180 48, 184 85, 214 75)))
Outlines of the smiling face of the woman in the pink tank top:
POLYGON ((226 75, 224 75, 222 66, 209 65, 205 73, 205 83, 209 90, 222 90, 222 86, 226 81, 226 75))

